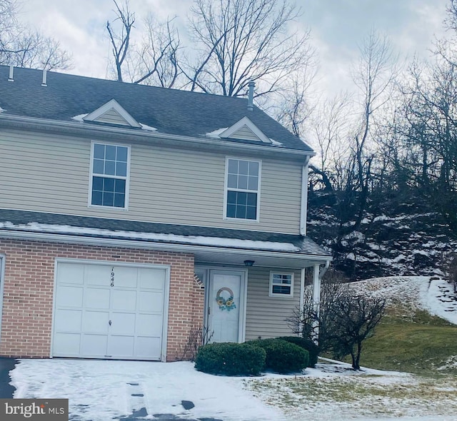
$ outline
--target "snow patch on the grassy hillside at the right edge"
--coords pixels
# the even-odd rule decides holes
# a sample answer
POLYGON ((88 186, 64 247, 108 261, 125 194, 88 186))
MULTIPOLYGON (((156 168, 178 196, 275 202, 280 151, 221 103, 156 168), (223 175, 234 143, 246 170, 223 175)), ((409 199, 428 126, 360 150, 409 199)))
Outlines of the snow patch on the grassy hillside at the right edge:
POLYGON ((457 296, 446 280, 428 276, 390 276, 351 283, 353 288, 383 296, 388 303, 413 313, 427 310, 457 325, 457 296))

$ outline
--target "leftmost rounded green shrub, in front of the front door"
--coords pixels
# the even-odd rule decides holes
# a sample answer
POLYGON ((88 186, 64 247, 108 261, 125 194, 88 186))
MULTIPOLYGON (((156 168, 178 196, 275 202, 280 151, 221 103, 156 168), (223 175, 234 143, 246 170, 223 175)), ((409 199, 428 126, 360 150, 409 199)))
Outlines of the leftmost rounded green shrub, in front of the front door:
POLYGON ((199 348, 196 370, 222 375, 259 375, 265 350, 248 343, 210 343, 199 348))

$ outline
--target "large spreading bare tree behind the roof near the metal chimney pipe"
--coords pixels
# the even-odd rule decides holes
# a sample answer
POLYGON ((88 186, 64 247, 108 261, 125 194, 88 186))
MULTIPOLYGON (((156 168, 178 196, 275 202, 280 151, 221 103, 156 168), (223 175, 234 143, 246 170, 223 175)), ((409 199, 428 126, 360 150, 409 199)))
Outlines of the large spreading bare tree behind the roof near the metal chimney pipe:
POLYGON ((299 11, 287 0, 195 0, 191 14, 200 49, 198 60, 182 68, 191 90, 243 96, 252 80, 263 96, 309 64, 308 32, 288 34, 299 11))

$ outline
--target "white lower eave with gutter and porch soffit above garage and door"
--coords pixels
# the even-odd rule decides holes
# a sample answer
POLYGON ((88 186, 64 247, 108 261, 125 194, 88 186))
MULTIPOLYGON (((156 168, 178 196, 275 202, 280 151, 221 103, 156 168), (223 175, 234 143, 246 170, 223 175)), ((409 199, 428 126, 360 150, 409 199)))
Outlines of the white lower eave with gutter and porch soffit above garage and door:
POLYGON ((157 243, 149 240, 90 237, 65 233, 39 233, 14 229, 1 229, 0 238, 189 253, 194 255, 196 264, 209 263, 214 265, 242 266, 244 265, 244 260, 254 260, 257 267, 301 269, 331 261, 330 256, 286 251, 248 250, 215 245, 157 243))

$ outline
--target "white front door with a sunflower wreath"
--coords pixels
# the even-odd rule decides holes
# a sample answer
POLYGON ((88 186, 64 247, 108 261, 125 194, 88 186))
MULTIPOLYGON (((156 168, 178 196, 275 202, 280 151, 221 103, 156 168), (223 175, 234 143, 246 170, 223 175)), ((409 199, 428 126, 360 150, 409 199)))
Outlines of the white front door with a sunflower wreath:
POLYGON ((245 273, 211 270, 208 326, 211 342, 243 342, 245 273))

